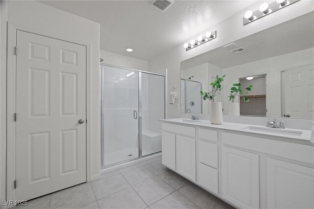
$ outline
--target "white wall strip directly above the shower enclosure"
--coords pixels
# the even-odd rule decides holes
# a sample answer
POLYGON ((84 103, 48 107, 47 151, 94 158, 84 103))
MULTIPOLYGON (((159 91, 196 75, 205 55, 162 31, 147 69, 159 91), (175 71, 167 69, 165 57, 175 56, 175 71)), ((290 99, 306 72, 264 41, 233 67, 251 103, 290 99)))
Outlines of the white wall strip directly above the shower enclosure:
POLYGON ((104 64, 131 68, 134 70, 148 71, 148 61, 146 60, 140 60, 104 50, 100 50, 100 57, 104 59, 102 62, 104 64))

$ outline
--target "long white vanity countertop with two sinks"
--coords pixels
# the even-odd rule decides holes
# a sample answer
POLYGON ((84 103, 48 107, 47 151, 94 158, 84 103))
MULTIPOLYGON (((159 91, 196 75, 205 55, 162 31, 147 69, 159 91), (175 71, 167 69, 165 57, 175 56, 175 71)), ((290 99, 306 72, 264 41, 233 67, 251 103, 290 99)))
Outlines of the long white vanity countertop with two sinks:
MULTIPOLYGON (((223 130, 231 130, 231 131, 239 131, 239 132, 245 132, 245 133, 254 133, 258 136, 263 135, 268 136, 269 139, 278 139, 278 140, 285 140, 289 142, 294 143, 302 143, 307 145, 314 145, 310 141, 311 131, 309 130, 301 130, 301 129, 284 129, 287 131, 297 131, 297 132, 303 132, 301 136, 288 136, 284 134, 278 134, 278 133, 268 133, 268 132, 262 132, 262 131, 252 131, 245 129, 247 127, 259 127, 259 128, 265 128, 265 126, 260 125, 251 125, 251 124, 243 124, 243 123, 230 123, 230 122, 223 122, 221 125, 211 124, 209 120, 200 120, 198 122, 189 122, 189 119, 186 118, 171 118, 171 119, 161 119, 162 122, 167 123, 176 123, 181 125, 193 125, 193 126, 200 126, 200 127, 208 127, 208 128, 217 128, 217 129, 223 129, 223 130), (183 121, 184 120, 184 121, 183 121)), ((269 128, 273 129, 273 128, 269 128)), ((272 130, 270 130, 272 131, 272 130)))

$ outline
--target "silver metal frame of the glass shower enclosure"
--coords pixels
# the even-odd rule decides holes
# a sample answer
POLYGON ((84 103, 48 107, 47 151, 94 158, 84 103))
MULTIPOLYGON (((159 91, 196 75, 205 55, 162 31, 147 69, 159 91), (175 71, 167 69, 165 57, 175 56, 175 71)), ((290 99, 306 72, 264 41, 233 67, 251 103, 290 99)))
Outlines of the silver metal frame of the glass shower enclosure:
POLYGON ((147 73, 147 74, 152 74, 152 75, 157 75, 157 76, 162 76, 163 77, 163 86, 164 86, 164 118, 166 118, 166 107, 167 107, 167 100, 166 100, 166 95, 167 95, 167 85, 166 85, 166 75, 161 75, 158 73, 154 73, 154 72, 148 72, 148 71, 144 71, 144 70, 135 70, 135 69, 131 69, 131 68, 124 68, 124 67, 119 67, 119 66, 115 66, 115 65, 108 65, 108 64, 100 64, 101 67, 101 168, 108 168, 111 166, 115 166, 115 165, 119 165, 121 163, 127 163, 127 162, 131 162, 134 160, 138 160, 141 158, 145 158, 151 155, 155 155, 157 153, 161 153, 161 151, 156 152, 156 153, 152 153, 149 155, 145 155, 142 156, 142 73, 147 73), (130 160, 126 160, 126 161, 122 161, 122 162, 118 162, 118 163, 113 163, 110 165, 104 165, 104 159, 105 159, 105 131, 104 131, 104 70, 103 67, 112 67, 112 68, 117 68, 117 69, 123 69, 123 70, 132 70, 132 71, 136 71, 138 72, 138 113, 137 113, 137 119, 138 119, 138 157, 137 158, 133 158, 130 160))

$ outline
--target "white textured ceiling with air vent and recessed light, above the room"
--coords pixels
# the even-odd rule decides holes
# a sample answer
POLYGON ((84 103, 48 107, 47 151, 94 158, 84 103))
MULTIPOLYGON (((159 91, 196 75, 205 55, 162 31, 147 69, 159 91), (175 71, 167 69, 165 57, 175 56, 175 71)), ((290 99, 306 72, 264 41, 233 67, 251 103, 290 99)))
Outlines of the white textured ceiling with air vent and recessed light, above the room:
POLYGON ((45 0, 100 23, 100 48, 149 60, 220 23, 258 0, 175 0, 165 12, 150 0, 45 0), (134 49, 127 52, 126 47, 134 49))

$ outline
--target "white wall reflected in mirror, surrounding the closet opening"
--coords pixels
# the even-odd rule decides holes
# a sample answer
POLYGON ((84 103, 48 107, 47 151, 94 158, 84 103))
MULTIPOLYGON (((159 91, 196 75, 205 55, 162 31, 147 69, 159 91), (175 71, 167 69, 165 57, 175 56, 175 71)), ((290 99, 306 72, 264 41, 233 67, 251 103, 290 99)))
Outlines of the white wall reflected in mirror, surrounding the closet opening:
MULTIPOLYGON (((291 67, 301 66, 313 63, 314 48, 309 48, 289 54, 284 54, 256 62, 246 63, 231 68, 223 69, 226 74, 224 80, 225 95, 227 98, 233 83, 238 82, 238 78, 250 75, 258 75, 267 73, 267 102, 268 116, 281 116, 281 85, 280 70, 291 67)), ((253 87, 254 89, 254 87, 253 87)), ((225 111, 228 114, 229 100, 224 100, 225 111)))

